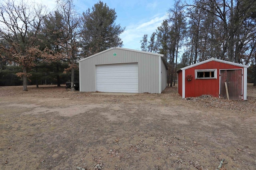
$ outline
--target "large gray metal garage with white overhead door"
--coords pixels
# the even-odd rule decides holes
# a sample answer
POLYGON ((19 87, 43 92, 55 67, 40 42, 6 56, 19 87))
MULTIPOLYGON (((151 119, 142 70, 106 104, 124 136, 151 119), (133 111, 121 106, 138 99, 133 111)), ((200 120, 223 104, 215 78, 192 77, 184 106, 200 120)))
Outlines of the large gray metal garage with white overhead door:
POLYGON ((113 47, 78 62, 80 92, 161 93, 167 86, 162 54, 113 47))

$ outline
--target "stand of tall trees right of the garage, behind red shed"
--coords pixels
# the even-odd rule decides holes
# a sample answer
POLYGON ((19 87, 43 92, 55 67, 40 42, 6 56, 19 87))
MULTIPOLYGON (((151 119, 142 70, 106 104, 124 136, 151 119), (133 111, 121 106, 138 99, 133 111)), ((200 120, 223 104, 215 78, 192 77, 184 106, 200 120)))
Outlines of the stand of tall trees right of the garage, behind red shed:
POLYGON ((211 57, 251 65, 248 81, 256 86, 255 25, 255 0, 176 0, 168 19, 142 37, 141 50, 164 54, 168 86, 177 69, 211 57))

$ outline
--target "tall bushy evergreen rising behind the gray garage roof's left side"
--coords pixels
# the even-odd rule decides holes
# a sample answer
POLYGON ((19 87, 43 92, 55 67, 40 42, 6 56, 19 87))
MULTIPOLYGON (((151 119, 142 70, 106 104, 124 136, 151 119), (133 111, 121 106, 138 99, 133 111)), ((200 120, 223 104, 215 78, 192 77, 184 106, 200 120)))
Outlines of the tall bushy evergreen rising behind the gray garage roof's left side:
POLYGON ((82 48, 84 57, 94 55, 111 47, 122 47, 119 35, 124 32, 120 24, 116 25, 116 12, 99 1, 92 10, 83 13, 82 21, 82 48))

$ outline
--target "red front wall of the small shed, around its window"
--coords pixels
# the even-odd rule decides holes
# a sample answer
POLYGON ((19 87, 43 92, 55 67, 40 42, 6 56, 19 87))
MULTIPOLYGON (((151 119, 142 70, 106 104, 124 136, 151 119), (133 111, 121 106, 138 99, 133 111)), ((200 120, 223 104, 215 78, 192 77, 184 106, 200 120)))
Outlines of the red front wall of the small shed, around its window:
POLYGON ((243 68, 217 61, 210 61, 208 63, 200 64, 185 70, 185 77, 188 74, 193 76, 191 81, 185 80, 185 98, 197 97, 203 94, 219 96, 219 80, 220 69, 236 69, 243 68), (217 79, 195 79, 195 70, 200 69, 217 69, 217 79))

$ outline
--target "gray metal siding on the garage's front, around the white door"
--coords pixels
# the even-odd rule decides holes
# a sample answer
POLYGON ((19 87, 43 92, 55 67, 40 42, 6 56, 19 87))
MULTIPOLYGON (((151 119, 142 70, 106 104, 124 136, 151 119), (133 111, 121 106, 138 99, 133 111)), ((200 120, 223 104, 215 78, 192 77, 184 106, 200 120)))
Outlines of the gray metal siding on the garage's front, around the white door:
MULTIPOLYGON (((159 83, 159 56, 128 51, 124 49, 111 49, 94 57, 80 61, 80 91, 94 92, 95 85, 95 65, 115 64, 115 63, 138 63, 139 93, 158 93, 161 83, 159 83), (113 54, 117 56, 114 57, 113 54)), ((161 70, 165 67, 161 64, 161 70)), ((164 72, 164 70, 162 72, 164 72)), ((166 72, 166 70, 165 70, 166 72)), ((166 83, 165 83, 166 84, 166 83)), ((162 86, 163 87, 163 86, 162 86)))

